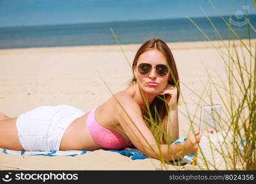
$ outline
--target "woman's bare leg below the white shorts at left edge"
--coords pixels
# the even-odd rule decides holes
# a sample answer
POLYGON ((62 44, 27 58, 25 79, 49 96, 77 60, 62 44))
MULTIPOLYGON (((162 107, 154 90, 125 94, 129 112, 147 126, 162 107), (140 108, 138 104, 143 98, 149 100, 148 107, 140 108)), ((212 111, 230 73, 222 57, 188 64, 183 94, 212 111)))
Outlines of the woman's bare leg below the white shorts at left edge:
POLYGON ((9 150, 24 150, 18 139, 17 118, 0 114, 0 147, 9 150))

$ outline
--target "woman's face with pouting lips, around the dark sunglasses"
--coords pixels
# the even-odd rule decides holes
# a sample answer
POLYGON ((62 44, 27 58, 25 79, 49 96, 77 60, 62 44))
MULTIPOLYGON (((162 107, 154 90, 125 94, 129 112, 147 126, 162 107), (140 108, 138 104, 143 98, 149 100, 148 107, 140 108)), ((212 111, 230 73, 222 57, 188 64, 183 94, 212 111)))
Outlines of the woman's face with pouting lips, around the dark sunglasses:
POLYGON ((165 64, 167 66, 167 61, 165 56, 157 49, 150 49, 142 53, 139 56, 138 63, 134 66, 134 74, 138 77, 138 81, 141 84, 141 88, 144 93, 147 94, 158 94, 163 89, 166 88, 169 79, 169 72, 165 76, 161 76, 155 70, 157 64, 165 64), (152 65, 152 69, 147 74, 140 74, 138 71, 138 66, 141 63, 149 63, 152 65), (152 83, 150 83, 152 82, 152 83))

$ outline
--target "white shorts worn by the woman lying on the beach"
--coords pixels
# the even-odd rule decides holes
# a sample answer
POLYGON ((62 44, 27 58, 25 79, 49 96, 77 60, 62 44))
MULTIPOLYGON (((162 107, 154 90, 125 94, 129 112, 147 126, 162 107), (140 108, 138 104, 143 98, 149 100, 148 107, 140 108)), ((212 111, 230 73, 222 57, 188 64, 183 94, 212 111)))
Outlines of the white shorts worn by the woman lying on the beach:
POLYGON ((71 105, 41 106, 21 114, 16 121, 25 151, 60 150, 61 139, 72 121, 84 115, 71 105))

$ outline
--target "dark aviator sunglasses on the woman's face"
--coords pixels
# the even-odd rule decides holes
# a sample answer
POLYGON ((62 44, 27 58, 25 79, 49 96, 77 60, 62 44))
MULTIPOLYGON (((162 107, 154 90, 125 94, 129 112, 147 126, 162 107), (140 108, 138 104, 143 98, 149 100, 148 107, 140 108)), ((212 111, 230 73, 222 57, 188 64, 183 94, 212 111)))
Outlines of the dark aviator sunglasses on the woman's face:
MULTIPOLYGON (((151 69, 152 65, 149 63, 141 63, 138 66, 138 71, 142 75, 149 73, 151 69)), ((157 74, 159 74, 160 76, 165 76, 169 72, 169 69, 165 64, 157 64, 157 66, 155 66, 155 70, 157 71, 157 74)))

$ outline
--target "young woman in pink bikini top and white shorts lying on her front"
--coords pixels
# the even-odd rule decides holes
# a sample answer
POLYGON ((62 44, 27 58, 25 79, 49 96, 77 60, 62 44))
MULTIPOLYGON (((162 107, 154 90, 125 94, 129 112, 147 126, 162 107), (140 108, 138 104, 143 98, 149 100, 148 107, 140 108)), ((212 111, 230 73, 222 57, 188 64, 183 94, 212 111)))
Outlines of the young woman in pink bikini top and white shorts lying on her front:
POLYGON ((179 138, 179 76, 161 39, 143 44, 133 61, 130 85, 88 113, 70 105, 42 106, 17 118, 0 115, 0 147, 10 150, 122 149, 174 160, 193 153, 201 134, 179 138))

